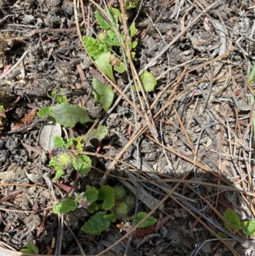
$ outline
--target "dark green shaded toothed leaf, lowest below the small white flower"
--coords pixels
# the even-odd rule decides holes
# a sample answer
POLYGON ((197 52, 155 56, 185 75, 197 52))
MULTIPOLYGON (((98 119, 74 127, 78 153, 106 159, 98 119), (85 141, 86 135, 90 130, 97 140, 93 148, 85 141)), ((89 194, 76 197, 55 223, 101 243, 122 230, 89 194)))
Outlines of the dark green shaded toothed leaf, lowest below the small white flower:
POLYGON ((92 216, 87 222, 82 226, 82 230, 87 234, 98 235, 103 230, 108 229, 110 227, 110 221, 105 220, 103 217, 105 213, 99 212, 92 216))

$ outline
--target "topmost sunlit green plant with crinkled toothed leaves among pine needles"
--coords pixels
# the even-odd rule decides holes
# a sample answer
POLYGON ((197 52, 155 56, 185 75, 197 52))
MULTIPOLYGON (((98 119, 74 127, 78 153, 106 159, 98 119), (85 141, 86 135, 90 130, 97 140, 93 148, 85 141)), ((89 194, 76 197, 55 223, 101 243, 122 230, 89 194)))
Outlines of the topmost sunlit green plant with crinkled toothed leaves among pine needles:
MULTIPOLYGON (((124 8, 126 10, 130 10, 132 8, 137 8, 138 4, 140 3, 140 0, 126 0, 124 1, 124 8)), ((122 47, 120 47, 120 40, 124 43, 124 45, 128 46, 126 47, 127 49, 131 50, 131 59, 135 59, 135 52, 132 51, 135 49, 135 47, 138 45, 138 41, 133 40, 131 42, 126 42, 124 34, 119 34, 119 37, 117 36, 117 33, 115 30, 119 29, 119 22, 122 22, 122 15, 119 12, 119 10, 109 7, 108 11, 110 13, 109 19, 112 20, 113 26, 106 20, 99 11, 96 11, 95 16, 96 20, 98 21, 99 26, 101 27, 102 31, 101 33, 98 34, 98 39, 94 39, 88 36, 84 36, 84 45, 85 48, 87 49, 88 54, 95 60, 95 63, 97 64, 99 70, 104 73, 109 79, 111 79, 113 82, 115 81, 115 77, 113 75, 113 70, 119 73, 123 73, 125 71, 125 65, 123 62, 124 54, 122 47), (122 57, 117 57, 111 53, 110 50, 112 50, 114 47, 115 52, 119 54, 122 57)), ((135 27, 135 23, 131 24, 130 29, 129 29, 129 36, 130 38, 134 38, 135 34, 137 33, 138 29, 135 27)), ((128 63, 128 59, 126 59, 128 63)), ((144 72, 140 76, 140 80, 142 82, 142 86, 144 91, 150 92, 154 91, 154 87, 156 86, 157 82, 152 73, 150 72, 144 72)), ((100 83, 101 86, 101 95, 108 94, 108 92, 104 93, 103 90, 106 90, 106 88, 109 88, 108 86, 105 86, 104 84, 101 84, 99 80, 94 77, 92 80, 92 85, 93 85, 93 94, 98 101, 98 103, 101 104, 103 107, 102 103, 99 102, 98 99, 98 84, 100 83)), ((135 88, 135 87, 134 87, 135 88)), ((109 88, 110 89, 110 88, 109 88)), ((108 90, 108 89, 107 89, 108 90)), ((109 97, 108 102, 110 102, 109 97)), ((103 107, 105 109, 105 107, 103 107)))

